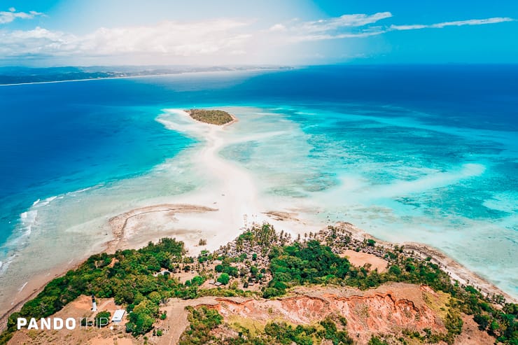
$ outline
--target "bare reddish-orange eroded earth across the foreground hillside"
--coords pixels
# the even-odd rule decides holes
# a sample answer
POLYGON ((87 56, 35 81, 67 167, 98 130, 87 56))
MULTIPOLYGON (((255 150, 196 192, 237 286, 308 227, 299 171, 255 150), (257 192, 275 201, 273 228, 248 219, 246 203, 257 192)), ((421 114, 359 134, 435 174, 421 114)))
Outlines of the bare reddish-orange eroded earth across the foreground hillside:
MULTIPOLYGON (((255 331, 264 330, 269 321, 284 321, 293 325, 314 325, 326 316, 341 315, 347 320, 346 329, 356 344, 367 344, 372 335, 399 335, 402 330, 430 329, 444 332, 442 309, 447 309, 444 298, 426 286, 407 283, 388 283, 379 288, 361 291, 355 288, 328 286, 295 288, 288 297, 277 300, 243 297, 200 297, 195 300, 169 300, 163 311, 167 319, 160 321, 157 328, 164 330, 161 337, 148 337, 148 344, 177 344, 188 326, 187 306, 216 309, 224 318, 224 323, 216 334, 236 333, 236 328, 244 326, 255 331)), ((113 300, 100 300, 103 309, 116 309, 113 300)), ((66 306, 55 316, 91 316, 90 298, 81 296, 66 306)), ((455 344, 492 344, 493 338, 481 332, 465 316, 463 333, 455 344)), ((136 339, 124 332, 123 325, 113 330, 103 328, 16 332, 8 344, 143 344, 144 339, 136 339)))

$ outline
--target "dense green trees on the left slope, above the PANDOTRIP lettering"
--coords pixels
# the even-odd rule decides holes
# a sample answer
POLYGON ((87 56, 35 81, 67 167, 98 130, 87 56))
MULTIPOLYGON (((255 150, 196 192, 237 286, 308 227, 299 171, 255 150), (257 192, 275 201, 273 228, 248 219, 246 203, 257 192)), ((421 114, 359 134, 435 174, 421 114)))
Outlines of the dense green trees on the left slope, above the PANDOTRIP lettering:
MULTIPOLYGON (((140 335, 153 328, 160 316, 159 305, 169 297, 195 298, 197 286, 185 286, 169 275, 153 276, 165 269, 179 269, 183 265, 183 242, 161 239, 158 244, 136 250, 92 255, 78 269, 53 279, 33 300, 8 318, 8 328, 0 336, 6 342, 16 328, 18 317, 45 318, 62 309, 80 295, 98 298, 113 297, 117 304, 127 306, 130 323, 127 331, 140 335), (113 265, 110 265, 113 262, 113 265)), ((193 279, 194 280, 194 279, 193 279)), ((102 314, 97 314, 98 316, 102 314)), ((99 316, 104 317, 104 316, 99 316)))

